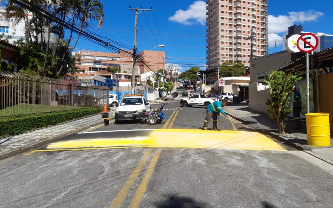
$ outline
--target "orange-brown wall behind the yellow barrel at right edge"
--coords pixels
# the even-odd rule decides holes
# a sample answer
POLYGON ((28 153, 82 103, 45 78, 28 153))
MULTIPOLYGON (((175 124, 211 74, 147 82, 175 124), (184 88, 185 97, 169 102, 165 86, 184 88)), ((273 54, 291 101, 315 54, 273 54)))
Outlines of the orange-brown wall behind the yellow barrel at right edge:
POLYGON ((329 90, 333 89, 333 73, 318 77, 320 112, 330 113, 330 124, 333 124, 333 97, 329 90))

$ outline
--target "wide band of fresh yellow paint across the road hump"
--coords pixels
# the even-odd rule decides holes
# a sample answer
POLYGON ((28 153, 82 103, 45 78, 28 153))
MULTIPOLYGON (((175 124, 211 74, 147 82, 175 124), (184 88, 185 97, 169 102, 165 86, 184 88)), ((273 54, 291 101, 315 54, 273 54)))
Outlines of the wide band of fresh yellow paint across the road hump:
POLYGON ((89 148, 89 147, 179 147, 244 150, 285 149, 258 132, 248 131, 207 131, 201 129, 155 129, 140 138, 76 139, 51 143, 48 149, 89 148))

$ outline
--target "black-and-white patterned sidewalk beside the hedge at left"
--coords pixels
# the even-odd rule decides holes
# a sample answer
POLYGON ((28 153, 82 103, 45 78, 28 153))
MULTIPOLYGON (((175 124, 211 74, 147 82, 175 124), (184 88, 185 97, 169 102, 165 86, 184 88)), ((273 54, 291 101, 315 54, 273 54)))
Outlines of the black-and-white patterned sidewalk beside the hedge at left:
MULTIPOLYGON (((115 109, 116 108, 111 107, 109 117, 113 117, 113 111, 115 109)), ((102 118, 101 113, 98 113, 84 118, 67 121, 65 123, 0 138, 0 160, 37 148, 101 123, 104 123, 104 119, 102 118)))

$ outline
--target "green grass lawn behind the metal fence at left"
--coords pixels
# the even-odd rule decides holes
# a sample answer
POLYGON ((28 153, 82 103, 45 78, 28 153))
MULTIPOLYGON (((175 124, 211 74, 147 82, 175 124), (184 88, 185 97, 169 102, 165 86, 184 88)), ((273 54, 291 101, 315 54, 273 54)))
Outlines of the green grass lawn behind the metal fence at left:
MULTIPOLYGON (((87 107, 69 105, 58 105, 56 107, 51 107, 48 105, 20 104, 20 117, 35 115, 39 113, 42 114, 55 111, 75 110, 83 108, 87 107)), ((13 105, 0 110, 0 119, 13 118, 14 115, 18 115, 18 105, 13 105)))

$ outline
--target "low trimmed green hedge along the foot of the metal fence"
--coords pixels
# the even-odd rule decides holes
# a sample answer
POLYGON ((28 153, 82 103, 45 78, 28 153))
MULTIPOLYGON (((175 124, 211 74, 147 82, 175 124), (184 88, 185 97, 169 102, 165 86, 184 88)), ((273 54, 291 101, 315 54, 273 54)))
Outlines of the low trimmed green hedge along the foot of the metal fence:
POLYGON ((0 120, 0 137, 22 133, 31 129, 73 120, 87 115, 102 112, 103 108, 87 108, 81 110, 50 113, 32 117, 0 120))

